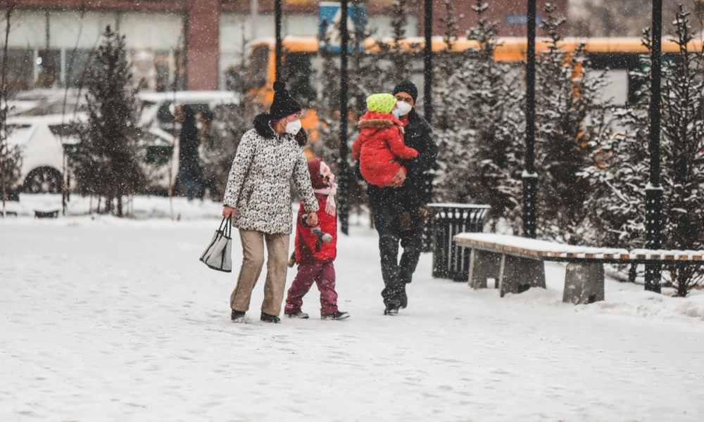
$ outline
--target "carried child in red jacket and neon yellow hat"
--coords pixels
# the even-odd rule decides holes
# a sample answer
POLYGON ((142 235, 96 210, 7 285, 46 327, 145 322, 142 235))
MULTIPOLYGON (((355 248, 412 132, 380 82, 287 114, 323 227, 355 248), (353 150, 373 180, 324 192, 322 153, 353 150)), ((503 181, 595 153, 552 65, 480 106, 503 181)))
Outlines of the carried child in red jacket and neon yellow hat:
POLYGON ((394 182, 394 175, 403 167, 399 159, 418 156, 418 151, 403 143, 403 123, 391 114, 395 106, 396 98, 391 94, 369 96, 369 111, 360 117, 360 135, 352 146, 352 158, 359 160, 362 177, 381 188, 394 182))

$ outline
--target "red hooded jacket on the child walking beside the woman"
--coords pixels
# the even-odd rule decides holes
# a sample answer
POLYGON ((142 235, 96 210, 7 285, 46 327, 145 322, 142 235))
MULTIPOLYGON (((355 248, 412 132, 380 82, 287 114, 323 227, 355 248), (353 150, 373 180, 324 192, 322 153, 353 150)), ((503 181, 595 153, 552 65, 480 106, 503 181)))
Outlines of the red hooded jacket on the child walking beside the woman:
MULTIPOLYGON (((308 172, 310 172, 310 183, 313 189, 323 189, 327 186, 320 174, 320 158, 308 161, 308 172)), ((318 227, 320 230, 332 236, 332 241, 322 243, 310 231, 306 224, 308 212, 303 207, 303 203, 298 208, 296 219, 296 261, 297 262, 332 262, 337 256, 337 215, 330 215, 325 212, 327 196, 315 193, 320 209, 318 210, 318 227)))

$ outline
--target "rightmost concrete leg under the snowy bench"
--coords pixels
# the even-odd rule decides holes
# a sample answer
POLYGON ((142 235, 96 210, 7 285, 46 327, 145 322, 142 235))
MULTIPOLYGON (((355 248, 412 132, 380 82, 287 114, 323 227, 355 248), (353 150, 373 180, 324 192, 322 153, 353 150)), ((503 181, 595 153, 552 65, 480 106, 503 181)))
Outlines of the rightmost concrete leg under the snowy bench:
POLYGON ((603 264, 570 262, 565 272, 565 293, 562 302, 586 304, 604 300, 603 264))

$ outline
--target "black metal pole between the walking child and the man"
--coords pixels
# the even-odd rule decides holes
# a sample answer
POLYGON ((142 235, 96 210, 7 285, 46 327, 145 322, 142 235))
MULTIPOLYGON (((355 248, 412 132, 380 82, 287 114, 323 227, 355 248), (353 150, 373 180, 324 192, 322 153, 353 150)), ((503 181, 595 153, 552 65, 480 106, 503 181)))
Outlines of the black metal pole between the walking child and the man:
POLYGON ((349 169, 347 165, 347 0, 340 1, 340 231, 348 234, 349 169))

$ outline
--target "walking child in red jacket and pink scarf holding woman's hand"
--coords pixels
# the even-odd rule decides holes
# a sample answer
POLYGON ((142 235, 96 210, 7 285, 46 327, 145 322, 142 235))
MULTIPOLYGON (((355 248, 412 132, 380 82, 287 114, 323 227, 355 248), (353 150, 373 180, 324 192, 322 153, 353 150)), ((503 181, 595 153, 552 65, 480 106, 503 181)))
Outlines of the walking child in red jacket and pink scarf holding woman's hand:
MULTIPOLYGON (((334 174, 330 167, 320 158, 308 161, 310 182, 313 184, 315 198, 318 199, 318 226, 306 224, 306 210, 298 208, 296 222, 295 262, 298 262, 298 274, 289 288, 284 314, 289 318, 308 318, 301 312, 303 295, 308 293, 315 282, 320 290, 320 318, 346 319, 347 312, 337 309, 337 292, 335 292, 335 267, 332 262, 337 255, 337 212, 335 210, 335 193, 337 183, 333 183, 334 174)), ((294 260, 294 257, 291 257, 294 260)), ((293 266, 293 263, 289 266, 293 266)))

